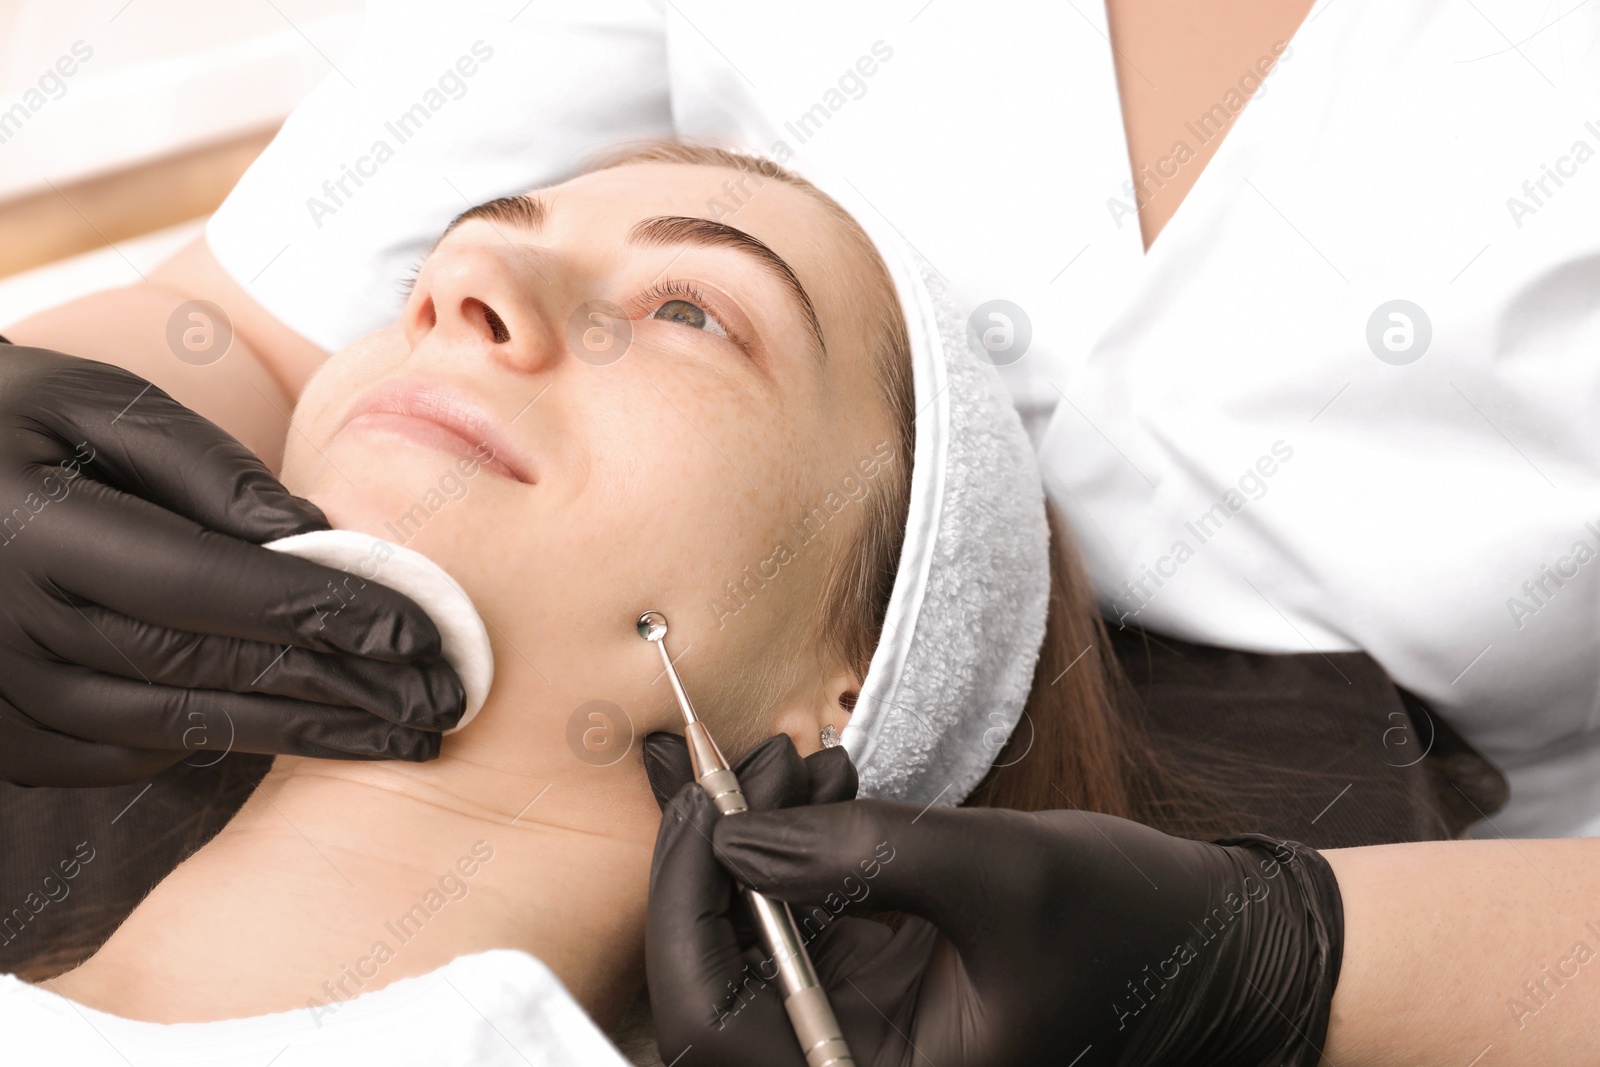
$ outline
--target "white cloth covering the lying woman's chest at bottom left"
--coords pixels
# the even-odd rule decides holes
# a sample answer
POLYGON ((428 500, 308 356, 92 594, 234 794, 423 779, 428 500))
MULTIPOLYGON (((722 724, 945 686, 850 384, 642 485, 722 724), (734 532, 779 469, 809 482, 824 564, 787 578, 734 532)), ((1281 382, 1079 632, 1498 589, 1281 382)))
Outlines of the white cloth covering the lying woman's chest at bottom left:
POLYGON ((627 1067, 544 963, 456 957, 322 1008, 222 1022, 139 1022, 0 974, 0 1062, 72 1067, 627 1067))

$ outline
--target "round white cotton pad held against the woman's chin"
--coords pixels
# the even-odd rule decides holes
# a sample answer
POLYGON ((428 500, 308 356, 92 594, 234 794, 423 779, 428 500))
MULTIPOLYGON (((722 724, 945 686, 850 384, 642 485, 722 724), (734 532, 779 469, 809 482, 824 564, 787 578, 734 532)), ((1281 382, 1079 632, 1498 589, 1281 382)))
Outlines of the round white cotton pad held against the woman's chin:
POLYGON ((483 707, 490 683, 494 681, 490 635, 467 590, 438 563, 421 552, 354 530, 314 530, 278 537, 261 547, 374 581, 414 600, 438 627, 445 662, 456 669, 467 694, 466 713, 445 733, 456 733, 483 707))

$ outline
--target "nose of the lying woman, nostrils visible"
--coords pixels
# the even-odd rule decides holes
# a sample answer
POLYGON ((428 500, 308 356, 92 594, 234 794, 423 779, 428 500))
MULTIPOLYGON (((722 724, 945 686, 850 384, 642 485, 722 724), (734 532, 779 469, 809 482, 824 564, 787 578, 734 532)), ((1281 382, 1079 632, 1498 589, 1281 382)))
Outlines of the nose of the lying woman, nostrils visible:
POLYGON ((411 349, 437 344, 522 371, 549 365, 562 334, 542 312, 539 296, 549 286, 534 258, 533 250, 488 245, 435 251, 400 315, 411 349))

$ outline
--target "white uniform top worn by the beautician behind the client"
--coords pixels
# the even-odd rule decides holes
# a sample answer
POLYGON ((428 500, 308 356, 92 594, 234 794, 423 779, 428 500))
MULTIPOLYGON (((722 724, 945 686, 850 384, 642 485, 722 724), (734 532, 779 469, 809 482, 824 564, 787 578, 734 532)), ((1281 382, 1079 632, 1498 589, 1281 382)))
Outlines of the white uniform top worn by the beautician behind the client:
POLYGON ((1597 38, 1576 0, 1322 0, 1248 107, 1139 176, 1227 128, 1146 253, 1093 0, 373 0, 206 234, 333 350, 394 320, 458 211, 618 141, 838 173, 1010 362, 1110 613, 1365 649, 1510 773, 1501 830, 1590 833, 1597 38))

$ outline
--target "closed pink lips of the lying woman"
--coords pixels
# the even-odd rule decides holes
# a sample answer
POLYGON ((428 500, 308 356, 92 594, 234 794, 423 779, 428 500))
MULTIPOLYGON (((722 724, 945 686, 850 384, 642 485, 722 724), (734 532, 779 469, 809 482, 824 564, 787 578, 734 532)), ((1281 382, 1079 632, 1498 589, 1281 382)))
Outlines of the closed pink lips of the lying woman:
POLYGON ((424 448, 469 458, 483 469, 533 485, 531 464, 482 405, 442 386, 392 382, 371 390, 344 429, 387 434, 424 448))

